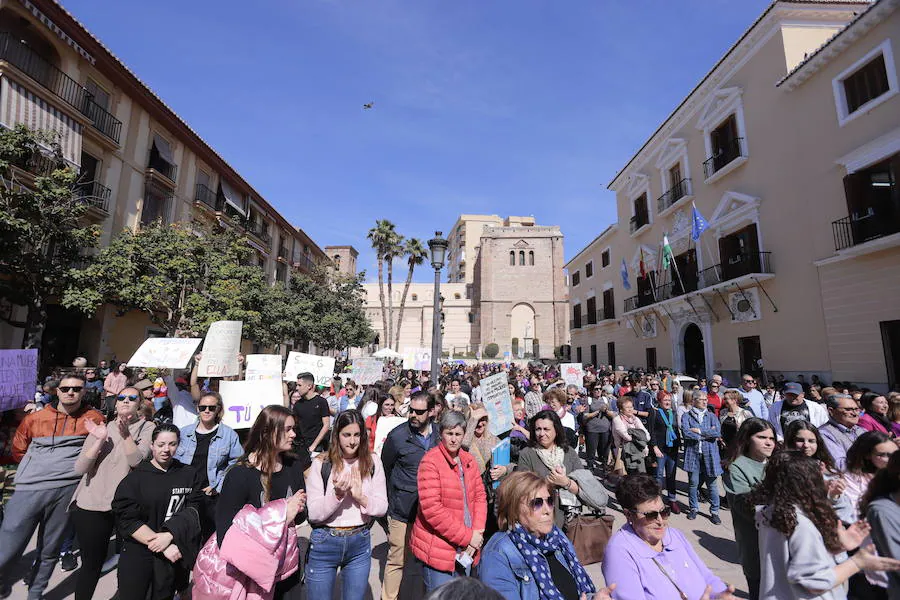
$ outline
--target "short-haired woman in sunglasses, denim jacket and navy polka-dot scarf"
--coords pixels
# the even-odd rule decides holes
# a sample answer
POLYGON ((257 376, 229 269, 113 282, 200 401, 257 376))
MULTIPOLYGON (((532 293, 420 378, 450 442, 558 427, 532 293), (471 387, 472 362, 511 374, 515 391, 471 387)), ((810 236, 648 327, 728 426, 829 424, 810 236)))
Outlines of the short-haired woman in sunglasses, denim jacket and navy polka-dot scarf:
MULTIPOLYGON (((500 484, 500 532, 484 547, 479 577, 505 600, 581 600, 596 592, 572 542, 553 523, 551 487, 530 471, 513 473, 500 484)), ((592 597, 609 599, 611 592, 592 597)))

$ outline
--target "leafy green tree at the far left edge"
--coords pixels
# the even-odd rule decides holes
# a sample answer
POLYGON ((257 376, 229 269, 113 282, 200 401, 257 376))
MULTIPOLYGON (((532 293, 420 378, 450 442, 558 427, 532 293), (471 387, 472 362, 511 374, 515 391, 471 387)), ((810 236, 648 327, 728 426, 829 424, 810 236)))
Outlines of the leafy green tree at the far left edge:
POLYGON ((56 137, 24 125, 0 128, 0 298, 28 308, 23 346, 40 346, 46 302, 88 260, 100 229, 86 220, 90 203, 56 137))

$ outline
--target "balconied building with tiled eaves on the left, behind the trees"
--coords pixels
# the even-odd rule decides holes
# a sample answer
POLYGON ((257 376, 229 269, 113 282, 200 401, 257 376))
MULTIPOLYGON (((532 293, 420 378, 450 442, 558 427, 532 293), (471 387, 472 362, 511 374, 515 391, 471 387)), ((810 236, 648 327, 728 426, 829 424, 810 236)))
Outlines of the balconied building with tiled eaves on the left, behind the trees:
MULTIPOLYGON (((91 204, 90 217, 102 226, 101 244, 157 220, 194 221, 238 227, 254 249, 250 262, 272 284, 326 260, 305 232, 50 0, 0 0, 0 125, 19 123, 59 134, 66 160, 85 182, 79 193, 91 204)), ((11 311, 16 320, 23 309, 11 311)), ((85 318, 54 304, 42 360, 127 360, 158 334, 144 315, 121 314, 113 305, 85 318)), ((21 340, 21 329, 0 326, 0 346, 19 347, 21 340)))

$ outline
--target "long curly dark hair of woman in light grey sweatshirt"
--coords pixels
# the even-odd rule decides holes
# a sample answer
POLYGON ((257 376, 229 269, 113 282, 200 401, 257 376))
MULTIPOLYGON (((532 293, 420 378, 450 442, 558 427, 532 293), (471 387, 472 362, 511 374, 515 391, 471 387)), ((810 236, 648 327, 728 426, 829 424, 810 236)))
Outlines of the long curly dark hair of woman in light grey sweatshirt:
POLYGON ((819 461, 799 450, 779 452, 766 463, 763 480, 750 492, 751 506, 771 508, 769 526, 790 537, 797 527, 797 511, 803 511, 822 534, 830 552, 843 550, 838 538, 838 517, 828 500, 819 461))

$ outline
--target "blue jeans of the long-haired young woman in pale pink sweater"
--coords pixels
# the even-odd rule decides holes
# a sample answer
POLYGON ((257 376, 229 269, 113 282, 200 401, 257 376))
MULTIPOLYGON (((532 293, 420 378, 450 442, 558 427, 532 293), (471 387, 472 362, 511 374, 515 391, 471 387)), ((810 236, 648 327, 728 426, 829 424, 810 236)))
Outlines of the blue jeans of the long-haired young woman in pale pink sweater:
POLYGON ((368 529, 346 537, 332 535, 328 529, 313 529, 309 536, 309 560, 306 563, 306 596, 330 599, 338 567, 341 568, 341 598, 362 600, 369 589, 372 567, 372 539, 368 529))

